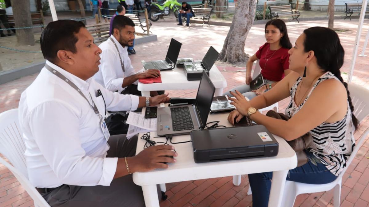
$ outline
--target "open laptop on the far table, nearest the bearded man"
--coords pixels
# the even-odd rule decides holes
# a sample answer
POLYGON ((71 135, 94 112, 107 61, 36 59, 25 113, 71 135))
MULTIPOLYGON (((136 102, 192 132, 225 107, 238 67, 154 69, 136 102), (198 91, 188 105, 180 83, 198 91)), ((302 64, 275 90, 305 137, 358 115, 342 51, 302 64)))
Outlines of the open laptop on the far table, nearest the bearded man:
POLYGON ((149 62, 142 62, 144 68, 157 69, 157 70, 172 70, 177 63, 179 51, 181 50, 182 43, 172 38, 169 44, 168 52, 166 53, 165 60, 156 60, 149 62))

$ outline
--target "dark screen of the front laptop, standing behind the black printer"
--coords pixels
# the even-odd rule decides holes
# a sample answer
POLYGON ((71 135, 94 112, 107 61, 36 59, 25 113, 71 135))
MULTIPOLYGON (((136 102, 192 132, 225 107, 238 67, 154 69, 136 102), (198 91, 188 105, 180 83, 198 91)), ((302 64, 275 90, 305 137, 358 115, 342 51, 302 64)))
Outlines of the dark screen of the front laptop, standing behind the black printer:
POLYGON ((201 76, 199 90, 196 95, 197 112, 200 116, 201 128, 204 129, 207 117, 209 115, 211 102, 215 92, 215 86, 211 82, 209 76, 203 71, 201 76))

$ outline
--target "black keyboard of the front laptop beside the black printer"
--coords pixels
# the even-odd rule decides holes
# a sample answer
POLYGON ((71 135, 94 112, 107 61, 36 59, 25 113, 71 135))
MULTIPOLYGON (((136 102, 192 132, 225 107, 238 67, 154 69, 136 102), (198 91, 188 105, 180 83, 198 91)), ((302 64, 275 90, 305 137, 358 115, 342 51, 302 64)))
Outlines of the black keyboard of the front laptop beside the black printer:
POLYGON ((190 130, 193 128, 190 109, 187 106, 170 108, 173 131, 190 130))

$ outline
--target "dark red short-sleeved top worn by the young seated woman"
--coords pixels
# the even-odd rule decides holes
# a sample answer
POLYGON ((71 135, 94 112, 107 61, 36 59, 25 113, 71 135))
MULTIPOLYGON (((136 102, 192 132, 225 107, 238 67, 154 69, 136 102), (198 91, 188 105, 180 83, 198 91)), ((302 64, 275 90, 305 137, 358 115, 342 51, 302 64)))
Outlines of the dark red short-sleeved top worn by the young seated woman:
POLYGON ((289 49, 287 48, 270 50, 269 43, 265 43, 259 48, 259 50, 256 52, 256 57, 260 60, 259 64, 261 67, 261 74, 263 75, 264 79, 270 81, 280 81, 282 78, 284 78, 284 70, 289 69, 290 65, 288 62, 290 57, 288 50, 289 49), (268 59, 268 62, 265 58, 268 59))

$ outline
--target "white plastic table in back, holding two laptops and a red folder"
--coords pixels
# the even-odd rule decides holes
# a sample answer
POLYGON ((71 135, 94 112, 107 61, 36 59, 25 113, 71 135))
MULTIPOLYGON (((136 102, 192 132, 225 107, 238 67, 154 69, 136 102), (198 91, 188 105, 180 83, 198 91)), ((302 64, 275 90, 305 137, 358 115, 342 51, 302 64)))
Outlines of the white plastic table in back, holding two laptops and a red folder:
MULTIPOLYGON (((143 84, 138 83, 137 89, 141 91, 142 96, 150 96, 150 91, 164 91, 164 90, 186 90, 186 89, 198 89, 200 81, 188 81, 186 74, 182 67, 173 70, 161 71, 162 83, 143 84)), ((227 80, 220 73, 217 66, 211 67, 210 80, 215 86, 214 96, 223 95, 223 89, 227 87, 227 80)))

